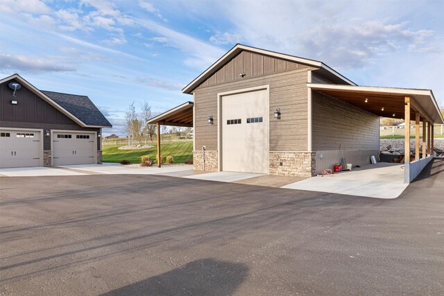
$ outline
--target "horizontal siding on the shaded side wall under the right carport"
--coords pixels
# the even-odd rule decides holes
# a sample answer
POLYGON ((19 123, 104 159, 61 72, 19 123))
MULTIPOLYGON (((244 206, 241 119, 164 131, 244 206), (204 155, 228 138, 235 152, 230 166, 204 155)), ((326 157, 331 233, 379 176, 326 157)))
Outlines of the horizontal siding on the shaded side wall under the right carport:
POLYGON ((379 116, 313 91, 313 150, 379 150, 379 116))

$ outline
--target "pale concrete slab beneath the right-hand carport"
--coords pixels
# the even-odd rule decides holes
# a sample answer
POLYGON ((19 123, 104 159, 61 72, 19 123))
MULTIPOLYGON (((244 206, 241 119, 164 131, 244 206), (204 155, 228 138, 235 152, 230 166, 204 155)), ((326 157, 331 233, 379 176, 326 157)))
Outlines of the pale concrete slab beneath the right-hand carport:
POLYGON ((404 184, 404 166, 379 163, 332 177, 311 177, 281 188, 393 199, 398 198, 407 186, 404 184))

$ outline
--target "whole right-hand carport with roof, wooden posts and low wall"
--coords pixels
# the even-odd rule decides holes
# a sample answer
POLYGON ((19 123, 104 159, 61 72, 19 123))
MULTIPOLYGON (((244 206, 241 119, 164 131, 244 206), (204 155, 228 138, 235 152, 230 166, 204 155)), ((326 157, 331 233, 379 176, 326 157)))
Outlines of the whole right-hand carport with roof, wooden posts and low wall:
MULTIPOLYGON (((345 101, 382 117, 414 121, 415 155, 404 159, 404 183, 409 184, 422 171, 433 155, 434 123, 443 124, 434 94, 430 89, 403 89, 391 87, 366 87, 355 85, 326 85, 308 83, 312 91, 345 101), (422 151, 420 151, 420 123, 422 123, 422 151)), ((406 126, 409 126, 406 122, 406 126)), ((404 155, 410 155, 410 129, 405 129, 404 155)))

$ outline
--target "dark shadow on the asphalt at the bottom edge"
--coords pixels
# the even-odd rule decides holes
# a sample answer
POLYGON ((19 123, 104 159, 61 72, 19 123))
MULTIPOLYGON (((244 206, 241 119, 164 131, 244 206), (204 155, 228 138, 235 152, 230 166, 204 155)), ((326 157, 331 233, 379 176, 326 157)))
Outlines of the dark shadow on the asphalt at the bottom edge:
POLYGON ((123 286, 110 295, 232 295, 248 277, 244 263, 200 259, 144 281, 123 286))

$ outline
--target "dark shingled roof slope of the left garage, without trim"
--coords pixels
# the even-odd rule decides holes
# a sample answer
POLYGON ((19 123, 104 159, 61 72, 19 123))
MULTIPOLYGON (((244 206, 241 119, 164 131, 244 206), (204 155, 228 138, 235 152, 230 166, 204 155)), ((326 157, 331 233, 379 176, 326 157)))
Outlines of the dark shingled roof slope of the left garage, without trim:
POLYGON ((78 96, 76 94, 62 94, 60 92, 41 91, 49 96, 51 100, 58 103, 69 113, 76 116, 86 125, 109 126, 110 121, 103 116, 102 112, 92 103, 87 96, 78 96))

